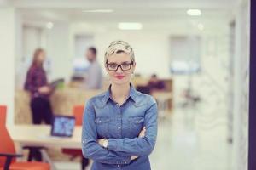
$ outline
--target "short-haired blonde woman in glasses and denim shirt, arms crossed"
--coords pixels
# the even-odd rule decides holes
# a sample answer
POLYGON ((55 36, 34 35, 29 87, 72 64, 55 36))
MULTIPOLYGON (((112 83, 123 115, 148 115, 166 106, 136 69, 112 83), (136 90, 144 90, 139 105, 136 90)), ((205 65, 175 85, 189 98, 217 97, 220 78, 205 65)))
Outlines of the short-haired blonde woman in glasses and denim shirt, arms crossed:
POLYGON ((107 92, 85 104, 82 150, 92 170, 149 170, 157 136, 157 105, 131 85, 136 63, 127 42, 112 42, 105 53, 107 92))

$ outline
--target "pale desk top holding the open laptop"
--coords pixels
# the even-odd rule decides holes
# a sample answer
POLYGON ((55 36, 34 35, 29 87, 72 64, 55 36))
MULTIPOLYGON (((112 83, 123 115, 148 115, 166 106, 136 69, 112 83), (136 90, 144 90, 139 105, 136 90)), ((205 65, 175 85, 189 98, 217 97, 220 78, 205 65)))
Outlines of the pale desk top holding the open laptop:
POLYGON ((82 127, 75 127, 72 138, 50 136, 49 125, 12 125, 7 127, 15 144, 81 149, 82 127))

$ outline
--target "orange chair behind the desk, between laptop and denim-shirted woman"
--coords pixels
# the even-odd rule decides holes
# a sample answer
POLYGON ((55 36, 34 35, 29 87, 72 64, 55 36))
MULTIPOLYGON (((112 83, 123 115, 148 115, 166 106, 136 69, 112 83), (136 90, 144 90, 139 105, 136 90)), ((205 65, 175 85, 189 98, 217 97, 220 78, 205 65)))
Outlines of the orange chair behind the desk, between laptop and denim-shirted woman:
MULTIPOLYGON (((84 105, 75 105, 73 107, 73 116, 75 117, 75 120, 76 120, 76 126, 82 126, 83 113, 84 113, 84 105)), ((88 159, 84 158, 82 150, 63 149, 62 153, 72 156, 71 160, 73 160, 77 156, 80 156, 82 169, 84 169, 84 167, 86 167, 89 163, 88 159)))

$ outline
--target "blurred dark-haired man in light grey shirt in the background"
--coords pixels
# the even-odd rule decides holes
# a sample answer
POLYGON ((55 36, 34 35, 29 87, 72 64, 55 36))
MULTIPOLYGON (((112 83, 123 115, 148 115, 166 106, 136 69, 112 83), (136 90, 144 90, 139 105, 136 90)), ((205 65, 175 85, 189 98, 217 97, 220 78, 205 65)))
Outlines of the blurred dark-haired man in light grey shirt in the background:
POLYGON ((85 57, 90 62, 86 76, 84 77, 84 86, 86 89, 102 88, 102 67, 96 59, 96 48, 88 48, 85 57))

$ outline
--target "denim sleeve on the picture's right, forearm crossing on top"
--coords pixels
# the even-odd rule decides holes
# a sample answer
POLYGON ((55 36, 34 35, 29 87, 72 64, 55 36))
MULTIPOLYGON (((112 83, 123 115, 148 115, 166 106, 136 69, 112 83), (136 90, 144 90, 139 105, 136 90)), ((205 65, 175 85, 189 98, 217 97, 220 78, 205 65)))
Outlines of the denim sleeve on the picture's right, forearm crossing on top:
POLYGON ((157 137, 157 105, 155 100, 152 100, 153 102, 151 102, 145 113, 145 137, 135 139, 108 139, 108 150, 113 150, 122 156, 150 155, 154 150, 157 137))

